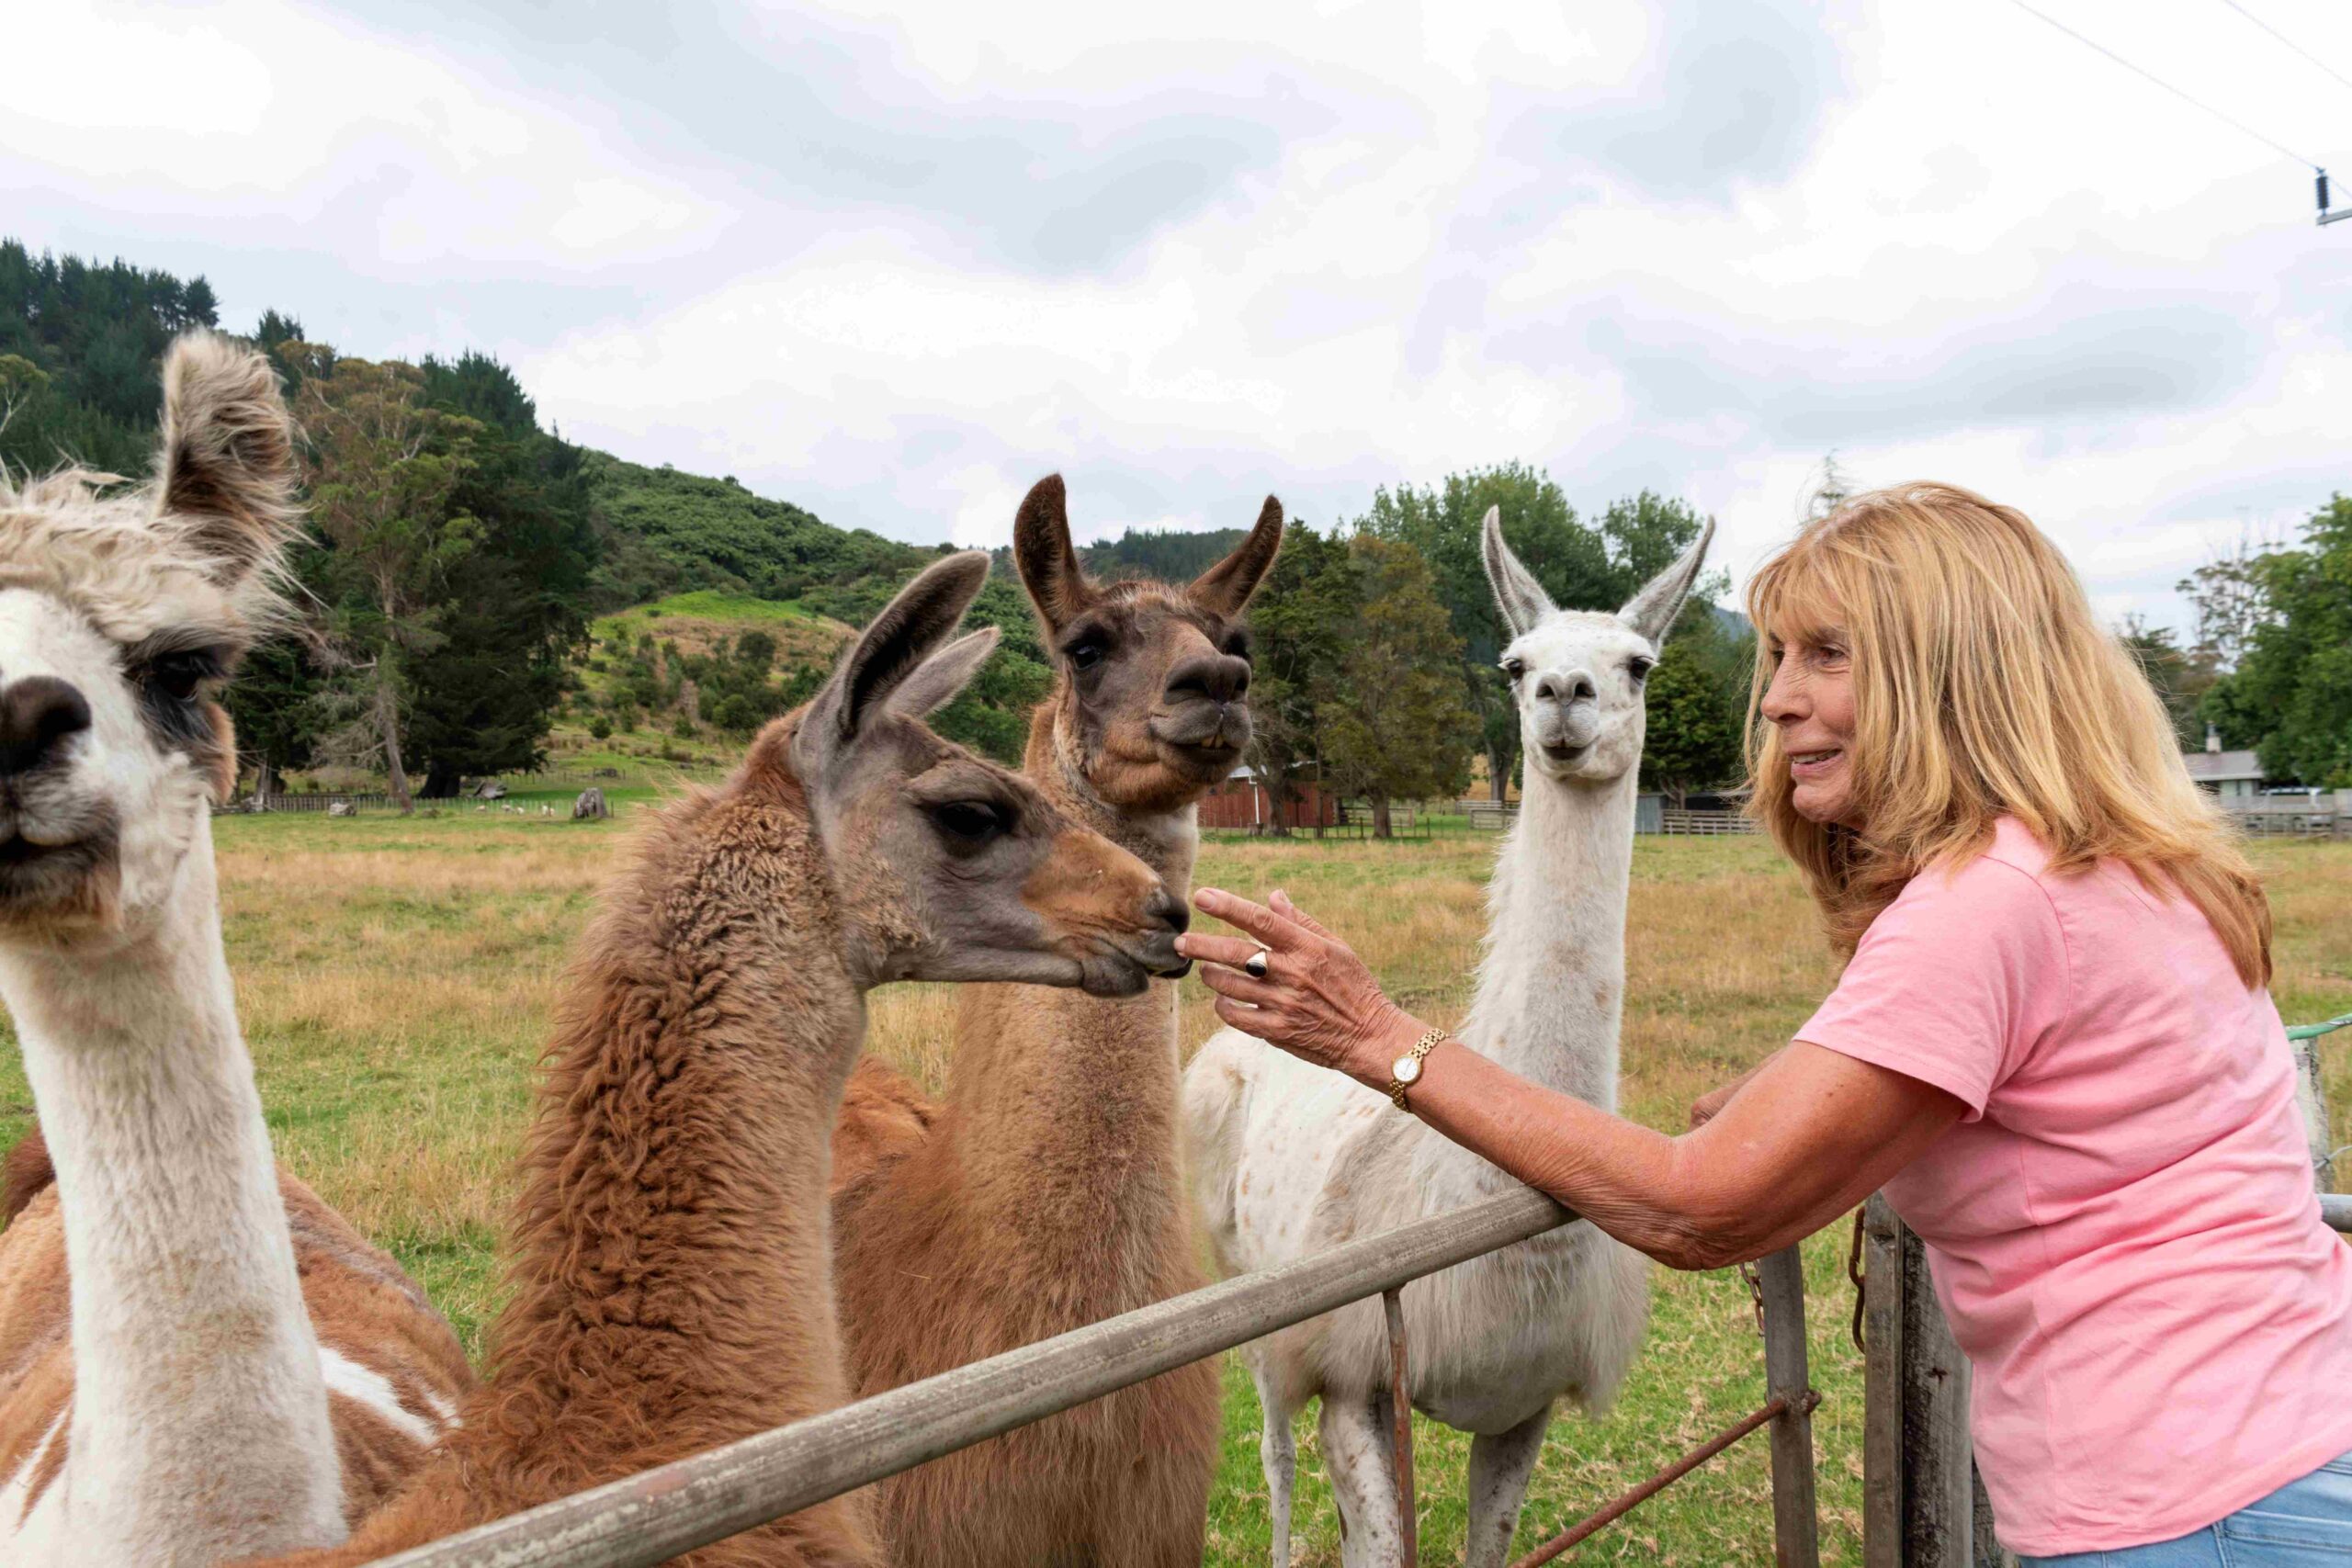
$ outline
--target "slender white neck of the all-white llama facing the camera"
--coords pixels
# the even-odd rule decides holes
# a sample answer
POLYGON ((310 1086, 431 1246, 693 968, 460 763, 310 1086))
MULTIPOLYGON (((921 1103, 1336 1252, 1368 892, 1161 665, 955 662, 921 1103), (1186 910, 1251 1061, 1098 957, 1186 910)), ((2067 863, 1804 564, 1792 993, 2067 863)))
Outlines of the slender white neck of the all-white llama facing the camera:
POLYGON ((1486 954, 1463 1041, 1616 1110, 1635 776, 1531 778, 1486 889, 1486 954))

